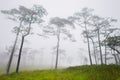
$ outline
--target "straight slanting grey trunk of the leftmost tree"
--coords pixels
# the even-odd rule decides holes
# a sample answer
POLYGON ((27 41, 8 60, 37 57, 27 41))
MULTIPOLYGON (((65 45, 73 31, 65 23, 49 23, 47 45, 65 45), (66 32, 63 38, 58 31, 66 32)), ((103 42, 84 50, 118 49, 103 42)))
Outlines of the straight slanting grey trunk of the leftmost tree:
POLYGON ((10 67, 11 67, 11 63, 12 63, 12 59, 13 59, 13 54, 14 54, 15 47, 16 47, 16 44, 17 44, 17 40, 18 40, 18 36, 19 36, 19 33, 20 33, 21 25, 22 25, 22 21, 20 22, 19 29, 18 29, 16 38, 15 38, 15 42, 14 42, 14 45, 13 45, 13 48, 12 48, 12 52, 11 52, 11 55, 10 55, 10 58, 9 58, 9 61, 8 61, 8 65, 7 65, 7 69, 6 69, 6 74, 7 75, 10 72, 10 67))

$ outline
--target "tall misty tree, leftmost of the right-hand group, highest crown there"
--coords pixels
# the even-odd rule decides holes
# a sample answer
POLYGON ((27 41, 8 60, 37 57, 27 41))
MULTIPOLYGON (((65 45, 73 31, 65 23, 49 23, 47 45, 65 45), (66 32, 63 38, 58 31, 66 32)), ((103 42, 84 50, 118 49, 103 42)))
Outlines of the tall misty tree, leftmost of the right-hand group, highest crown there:
POLYGON ((86 39, 88 43, 90 65, 92 65, 92 58, 91 58, 91 51, 90 51, 90 41, 88 37, 88 28, 89 28, 89 21, 92 17, 92 12, 93 12, 93 9, 83 8, 81 12, 77 12, 75 13, 73 17, 69 18, 71 21, 74 21, 79 26, 83 27, 84 30, 86 31, 86 39))

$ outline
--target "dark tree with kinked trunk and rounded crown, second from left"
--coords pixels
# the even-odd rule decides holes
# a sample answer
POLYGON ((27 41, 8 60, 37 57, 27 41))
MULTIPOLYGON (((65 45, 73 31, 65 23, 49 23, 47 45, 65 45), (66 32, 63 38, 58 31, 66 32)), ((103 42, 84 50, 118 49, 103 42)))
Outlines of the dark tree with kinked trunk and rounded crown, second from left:
POLYGON ((21 12, 22 11, 23 11, 23 14, 26 14, 24 24, 28 25, 28 27, 26 27, 26 28, 23 27, 21 29, 22 41, 21 41, 21 46, 20 46, 20 50, 19 50, 19 57, 18 57, 18 62, 17 62, 16 73, 19 72, 19 65, 20 65, 22 48, 23 48, 25 37, 28 36, 31 32, 31 24, 43 22, 43 20, 41 18, 44 15, 47 15, 46 9, 44 9, 40 5, 33 5, 32 9, 28 9, 28 8, 22 6, 21 12))

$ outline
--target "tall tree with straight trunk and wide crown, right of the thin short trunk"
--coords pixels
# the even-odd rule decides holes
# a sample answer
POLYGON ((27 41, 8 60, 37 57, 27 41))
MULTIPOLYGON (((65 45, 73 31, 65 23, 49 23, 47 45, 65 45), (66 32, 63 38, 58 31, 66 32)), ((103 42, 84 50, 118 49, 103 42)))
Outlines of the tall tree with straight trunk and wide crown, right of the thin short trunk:
MULTIPOLYGON (((100 16, 97 15, 93 15, 91 18, 91 23, 92 26, 94 26, 93 31, 96 32, 97 34, 97 39, 98 39, 98 44, 99 44, 99 51, 100 51, 100 57, 101 57, 101 64, 103 64, 103 57, 102 57, 102 45, 101 45, 101 34, 103 34, 103 31, 106 30, 111 30, 110 27, 112 26, 111 23, 115 22, 115 19, 111 19, 111 18, 102 18, 100 16)), ((109 34, 106 33, 107 37, 109 34)))

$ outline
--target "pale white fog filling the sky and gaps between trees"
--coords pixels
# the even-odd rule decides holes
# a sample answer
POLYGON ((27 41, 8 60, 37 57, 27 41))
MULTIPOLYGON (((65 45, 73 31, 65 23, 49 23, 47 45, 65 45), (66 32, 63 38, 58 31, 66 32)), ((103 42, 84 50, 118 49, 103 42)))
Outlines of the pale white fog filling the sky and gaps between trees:
MULTIPOLYGON (((117 19, 116 26, 118 26, 120 25, 119 3, 120 0, 0 0, 0 10, 18 8, 20 5, 29 8, 33 4, 39 4, 47 10, 48 16, 45 19, 48 21, 51 17, 56 16, 67 18, 82 8, 88 7, 94 9, 95 14, 117 19)), ((0 13, 0 25, 0 68, 5 69, 10 56, 7 49, 13 45, 15 40, 15 34, 11 31, 14 26, 17 26, 17 23, 8 20, 4 14, 0 13)), ((25 39, 21 69, 28 69, 28 67, 34 69, 54 68, 56 37, 40 37, 37 35, 39 29, 40 25, 34 25, 34 34, 25 39)), ((84 37, 81 35, 82 28, 79 27, 71 32, 74 34, 76 42, 61 39, 60 49, 64 49, 65 52, 59 56, 59 67, 89 64, 87 44, 84 43, 84 37)), ((16 66, 17 55, 16 52, 12 62, 13 68, 16 66)))

